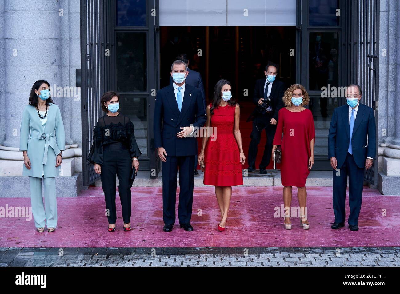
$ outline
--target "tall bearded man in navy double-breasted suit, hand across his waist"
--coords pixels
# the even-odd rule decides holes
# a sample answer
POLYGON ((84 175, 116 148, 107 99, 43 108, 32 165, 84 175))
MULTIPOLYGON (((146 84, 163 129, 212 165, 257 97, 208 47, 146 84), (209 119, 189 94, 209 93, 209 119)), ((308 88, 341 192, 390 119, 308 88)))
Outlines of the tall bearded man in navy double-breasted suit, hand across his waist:
POLYGON ((179 167, 178 219, 181 228, 192 231, 194 156, 197 154, 195 128, 204 126, 206 114, 198 88, 185 83, 186 63, 175 60, 171 66, 172 85, 160 89, 154 108, 154 144, 162 160, 162 207, 164 232, 175 223, 176 180, 179 167), (161 126, 162 123, 162 126, 161 126))

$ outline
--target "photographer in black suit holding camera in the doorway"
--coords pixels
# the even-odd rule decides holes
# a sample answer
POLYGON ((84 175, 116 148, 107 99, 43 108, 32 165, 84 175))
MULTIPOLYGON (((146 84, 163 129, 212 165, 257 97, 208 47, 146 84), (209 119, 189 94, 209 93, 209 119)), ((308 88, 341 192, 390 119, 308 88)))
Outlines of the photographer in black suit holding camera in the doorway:
POLYGON ((256 170, 257 150, 261 140, 261 132, 265 130, 267 136, 264 155, 260 162, 260 174, 267 173, 266 167, 271 159, 272 141, 274 140, 278 122, 278 112, 284 106, 282 97, 285 92, 284 83, 275 80, 278 74, 278 66, 276 64, 268 63, 264 74, 265 78, 256 81, 253 102, 257 106, 247 120, 253 120, 248 154, 249 172, 256 170))

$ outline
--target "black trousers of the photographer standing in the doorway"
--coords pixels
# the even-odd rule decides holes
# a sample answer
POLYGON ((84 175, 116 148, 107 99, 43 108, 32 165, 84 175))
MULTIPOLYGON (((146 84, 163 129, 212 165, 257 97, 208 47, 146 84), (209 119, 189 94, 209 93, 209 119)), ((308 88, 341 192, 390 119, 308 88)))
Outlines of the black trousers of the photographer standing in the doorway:
POLYGON ((250 145, 249 145, 249 154, 248 154, 248 164, 249 166, 256 167, 256 158, 258 152, 258 144, 260 144, 261 140, 261 128, 266 126, 265 134, 267 136, 267 141, 264 146, 264 154, 262 156, 260 162, 260 170, 265 170, 271 160, 271 152, 272 152, 272 142, 274 141, 274 136, 276 132, 276 124, 270 124, 272 116, 271 114, 263 114, 258 115, 253 120, 253 130, 250 134, 250 145), (257 130, 257 127, 259 130, 257 130))

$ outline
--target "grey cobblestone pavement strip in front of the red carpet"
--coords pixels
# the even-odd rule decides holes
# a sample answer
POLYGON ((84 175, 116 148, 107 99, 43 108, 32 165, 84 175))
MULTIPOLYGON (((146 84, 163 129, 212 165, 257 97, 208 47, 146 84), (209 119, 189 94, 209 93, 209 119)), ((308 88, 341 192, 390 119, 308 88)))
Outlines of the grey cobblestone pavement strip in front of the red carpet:
POLYGON ((0 247, 0 266, 400 266, 400 247, 0 247))

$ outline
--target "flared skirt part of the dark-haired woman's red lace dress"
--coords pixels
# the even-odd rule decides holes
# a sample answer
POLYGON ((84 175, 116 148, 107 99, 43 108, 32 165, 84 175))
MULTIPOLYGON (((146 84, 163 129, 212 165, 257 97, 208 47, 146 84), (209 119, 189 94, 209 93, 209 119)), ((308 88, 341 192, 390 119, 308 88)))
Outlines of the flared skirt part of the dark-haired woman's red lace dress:
POLYGON ((204 154, 204 184, 211 186, 243 185, 240 152, 233 134, 218 134, 208 139, 204 154))

